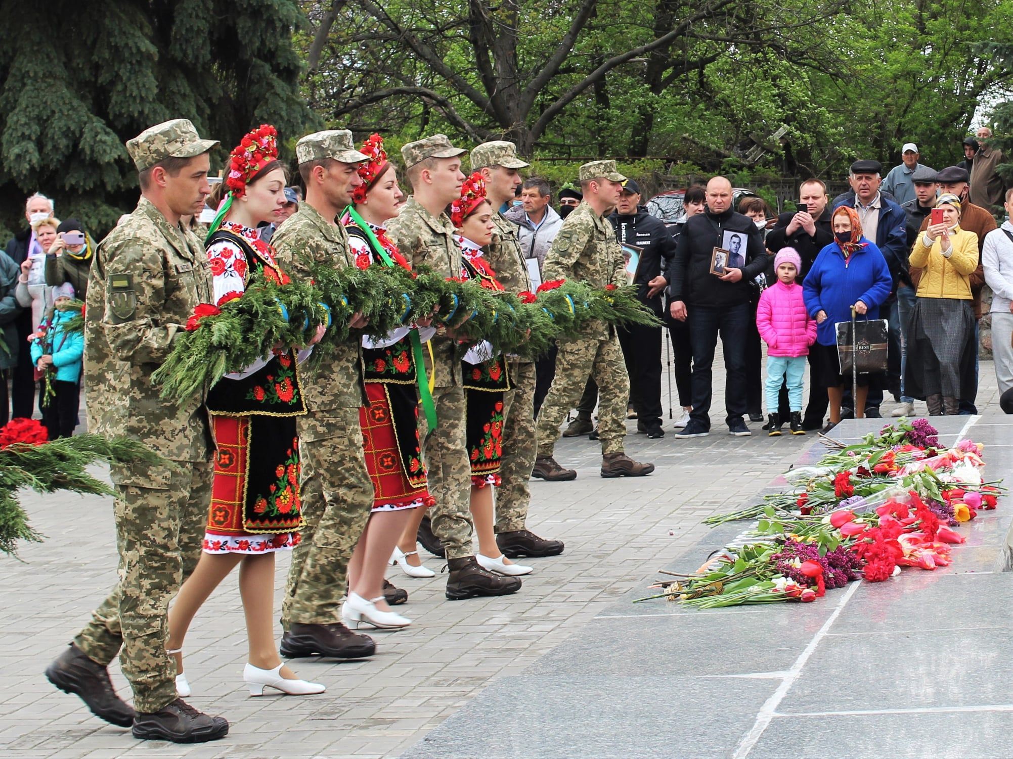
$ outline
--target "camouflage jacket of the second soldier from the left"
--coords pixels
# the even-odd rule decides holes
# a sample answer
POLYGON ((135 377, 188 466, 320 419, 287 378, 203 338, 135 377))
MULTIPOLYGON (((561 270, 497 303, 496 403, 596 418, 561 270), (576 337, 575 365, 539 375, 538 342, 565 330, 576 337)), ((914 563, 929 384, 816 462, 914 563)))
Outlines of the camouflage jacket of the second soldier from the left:
MULTIPOLYGON (((308 281, 314 264, 337 268, 354 265, 348 252, 348 233, 341 225, 328 224, 307 202, 285 221, 270 238, 278 262, 293 279, 308 281)), ((363 387, 361 340, 358 337, 328 349, 309 363, 303 384, 310 413, 366 405, 363 387)))

